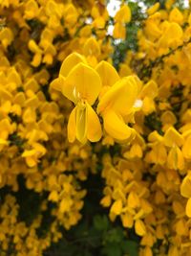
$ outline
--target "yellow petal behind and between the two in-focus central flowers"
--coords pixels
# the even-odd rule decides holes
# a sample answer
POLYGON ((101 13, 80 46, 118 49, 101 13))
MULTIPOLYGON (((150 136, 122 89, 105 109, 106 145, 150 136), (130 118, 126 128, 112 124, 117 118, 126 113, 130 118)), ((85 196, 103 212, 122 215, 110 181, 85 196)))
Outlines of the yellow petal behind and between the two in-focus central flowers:
POLYGON ((96 72, 99 74, 103 86, 112 86, 119 80, 117 70, 107 61, 100 61, 96 66, 96 72))

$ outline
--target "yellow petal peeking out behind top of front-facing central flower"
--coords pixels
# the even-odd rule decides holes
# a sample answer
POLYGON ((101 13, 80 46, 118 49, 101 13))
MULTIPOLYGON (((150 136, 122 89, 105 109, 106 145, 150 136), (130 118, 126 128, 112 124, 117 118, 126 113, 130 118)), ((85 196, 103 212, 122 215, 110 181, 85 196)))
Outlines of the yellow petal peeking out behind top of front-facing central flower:
POLYGON ((64 59, 60 67, 59 75, 67 77, 71 70, 74 68, 74 66, 80 62, 86 63, 86 59, 77 53, 69 55, 67 58, 64 59))

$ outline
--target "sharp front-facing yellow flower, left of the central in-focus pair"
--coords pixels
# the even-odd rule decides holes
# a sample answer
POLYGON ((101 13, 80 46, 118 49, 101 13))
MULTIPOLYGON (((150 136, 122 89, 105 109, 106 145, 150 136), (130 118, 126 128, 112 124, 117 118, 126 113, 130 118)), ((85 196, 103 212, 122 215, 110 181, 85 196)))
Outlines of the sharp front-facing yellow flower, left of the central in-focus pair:
POLYGON ((91 106, 95 104, 101 89, 101 80, 96 71, 85 63, 83 57, 72 54, 63 62, 59 78, 54 81, 53 86, 76 105, 69 117, 69 141, 74 142, 75 137, 81 143, 85 143, 87 139, 98 141, 102 131, 91 106))

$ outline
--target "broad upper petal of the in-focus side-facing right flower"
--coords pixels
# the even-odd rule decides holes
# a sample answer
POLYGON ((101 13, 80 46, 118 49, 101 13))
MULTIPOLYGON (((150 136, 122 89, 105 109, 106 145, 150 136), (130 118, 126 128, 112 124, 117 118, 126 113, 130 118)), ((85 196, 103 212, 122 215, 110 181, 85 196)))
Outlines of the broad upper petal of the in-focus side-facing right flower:
POLYGON ((97 111, 112 108, 125 116, 132 111, 138 96, 138 83, 133 76, 123 78, 115 83, 101 98, 97 111))

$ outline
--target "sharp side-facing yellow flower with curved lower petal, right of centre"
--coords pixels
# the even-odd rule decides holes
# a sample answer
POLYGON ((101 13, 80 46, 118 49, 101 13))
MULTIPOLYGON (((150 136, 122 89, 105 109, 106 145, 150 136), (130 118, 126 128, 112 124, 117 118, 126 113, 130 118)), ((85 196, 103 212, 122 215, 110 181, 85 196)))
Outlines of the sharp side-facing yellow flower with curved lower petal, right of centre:
POLYGON ((126 117, 134 111, 138 97, 138 84, 133 76, 117 81, 100 99, 97 112, 103 117, 103 125, 109 135, 117 140, 134 136, 134 129, 125 124, 126 117))

